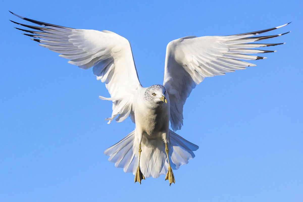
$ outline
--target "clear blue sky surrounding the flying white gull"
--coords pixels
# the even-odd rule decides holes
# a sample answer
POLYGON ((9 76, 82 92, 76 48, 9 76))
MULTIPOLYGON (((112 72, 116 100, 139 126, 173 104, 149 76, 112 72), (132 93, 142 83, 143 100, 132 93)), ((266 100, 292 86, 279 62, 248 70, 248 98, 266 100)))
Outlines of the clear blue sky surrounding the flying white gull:
POLYGON ((301 1, 6 1, 0 16, 1 201, 302 201, 301 1), (8 20, 110 30, 127 38, 140 82, 162 84, 165 48, 188 36, 291 24, 257 66, 206 78, 187 99, 179 135, 200 148, 174 171, 134 184, 103 151, 134 129, 107 124, 111 102, 91 70, 42 48, 8 20))

